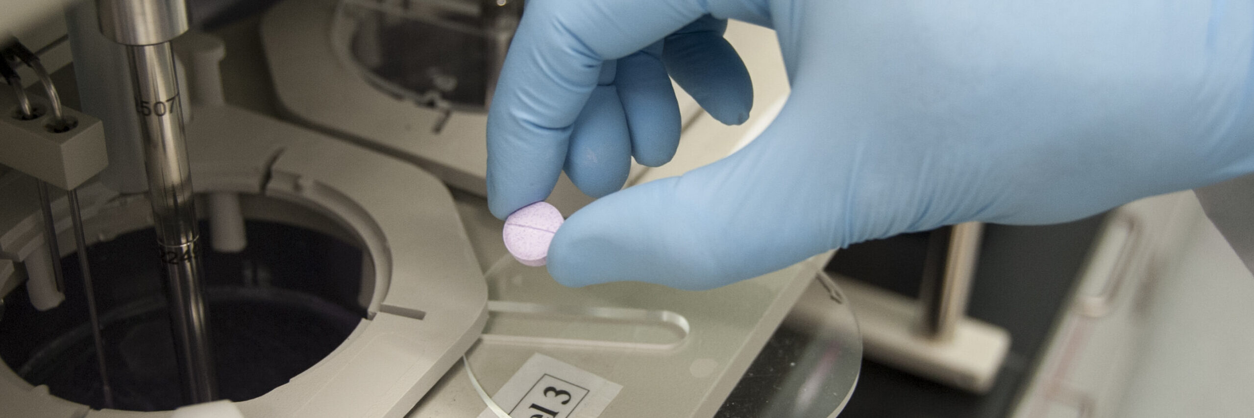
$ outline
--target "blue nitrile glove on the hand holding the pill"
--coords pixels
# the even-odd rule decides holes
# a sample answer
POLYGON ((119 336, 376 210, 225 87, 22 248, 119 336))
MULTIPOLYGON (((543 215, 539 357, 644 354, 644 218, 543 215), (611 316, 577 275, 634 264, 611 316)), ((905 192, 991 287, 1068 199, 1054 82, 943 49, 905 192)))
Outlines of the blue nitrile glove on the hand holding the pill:
POLYGON ((563 166, 608 193, 549 249, 576 286, 707 289, 904 231, 1075 220, 1254 171, 1251 36, 1250 1, 530 0, 489 113, 489 203, 544 198, 563 166), (779 33, 788 103, 740 152, 611 193, 628 154, 675 149, 658 56, 744 121, 749 82, 702 16, 779 33))

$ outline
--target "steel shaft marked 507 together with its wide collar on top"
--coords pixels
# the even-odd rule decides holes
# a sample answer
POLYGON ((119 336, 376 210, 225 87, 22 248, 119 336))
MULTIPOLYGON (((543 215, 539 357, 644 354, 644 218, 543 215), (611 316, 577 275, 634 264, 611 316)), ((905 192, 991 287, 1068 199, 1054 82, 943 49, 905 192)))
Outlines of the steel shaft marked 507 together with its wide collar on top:
POLYGON ((183 108, 169 41, 187 31, 183 0, 97 0, 100 31, 127 46, 143 133, 144 168, 153 227, 166 265, 169 315, 187 400, 217 395, 199 231, 192 203, 191 166, 183 137, 183 108))

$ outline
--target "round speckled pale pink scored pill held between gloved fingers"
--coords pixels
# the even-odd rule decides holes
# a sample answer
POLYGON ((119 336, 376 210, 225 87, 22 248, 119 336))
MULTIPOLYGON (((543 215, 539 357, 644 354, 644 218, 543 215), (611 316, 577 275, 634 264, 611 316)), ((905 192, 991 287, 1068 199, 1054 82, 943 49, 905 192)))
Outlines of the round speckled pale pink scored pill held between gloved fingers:
POLYGON ((505 250, 523 265, 539 267, 548 262, 548 245, 562 226, 562 212, 553 205, 535 202, 509 213, 502 237, 505 250))

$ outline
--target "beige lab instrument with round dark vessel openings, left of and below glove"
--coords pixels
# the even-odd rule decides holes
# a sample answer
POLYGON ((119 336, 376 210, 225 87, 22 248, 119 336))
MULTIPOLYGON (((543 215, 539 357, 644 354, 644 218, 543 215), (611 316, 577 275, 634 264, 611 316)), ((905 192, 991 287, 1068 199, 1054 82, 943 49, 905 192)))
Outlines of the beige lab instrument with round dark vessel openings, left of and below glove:
MULTIPOLYGON (((848 301, 816 279, 830 254, 706 292, 569 289, 508 255, 483 201, 483 112, 520 3, 281 1, 245 18, 245 40, 187 30, 204 4, 187 5, 188 25, 168 1, 0 3, 23 11, 4 28, 35 45, 61 94, 78 93, 63 115, 0 122, 54 151, 0 147, 0 334, 21 336, 0 344, 6 410, 474 415, 474 387, 502 395, 535 355, 621 385, 601 417, 829 417, 848 400, 861 341, 848 301), (233 95, 257 83, 273 94, 233 95), (40 210, 31 176, 76 197, 50 187, 40 210), (154 233, 163 256, 145 250, 154 233), (87 249, 50 250, 53 238, 87 249), (163 276, 184 291, 164 291, 163 276), (781 340, 777 328, 794 331, 781 340), (211 398, 234 408, 191 405, 211 398)), ((18 74, 0 103, 50 109, 38 77, 18 74)), ((766 85, 767 99, 785 92, 766 85)), ((681 107, 688 126, 707 123, 691 98, 681 107)), ((744 136, 732 129, 692 131, 666 169, 725 156, 744 136)), ((591 201, 563 185, 556 208, 591 201)))

